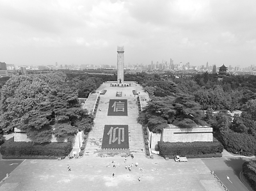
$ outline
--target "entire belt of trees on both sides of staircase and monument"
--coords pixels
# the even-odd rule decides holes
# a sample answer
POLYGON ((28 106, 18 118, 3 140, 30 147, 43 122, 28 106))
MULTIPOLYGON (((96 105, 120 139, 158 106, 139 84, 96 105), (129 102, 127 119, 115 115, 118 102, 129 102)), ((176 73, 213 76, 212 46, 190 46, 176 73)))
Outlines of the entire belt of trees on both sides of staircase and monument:
MULTIPOLYGON (((61 141, 77 130, 90 130, 93 118, 80 109, 77 96, 86 98, 102 82, 115 80, 116 75, 74 72, 13 77, 1 90, 0 128, 18 127, 36 142, 49 141, 51 135, 61 141)), ((219 82, 207 72, 192 79, 138 73, 125 74, 124 80, 140 83, 150 95, 152 101, 138 121, 153 132, 168 124, 209 125, 226 149, 252 154, 254 147, 244 140, 255 140, 255 76, 227 76, 219 82), (236 109, 243 111, 241 116, 229 116, 227 110, 236 109)))

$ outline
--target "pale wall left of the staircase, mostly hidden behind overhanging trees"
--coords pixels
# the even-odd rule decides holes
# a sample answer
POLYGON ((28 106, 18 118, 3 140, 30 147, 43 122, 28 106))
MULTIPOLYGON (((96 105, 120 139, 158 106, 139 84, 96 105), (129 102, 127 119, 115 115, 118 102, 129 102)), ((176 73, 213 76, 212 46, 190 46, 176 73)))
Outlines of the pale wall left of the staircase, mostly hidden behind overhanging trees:
MULTIPOLYGON (((73 148, 80 148, 83 144, 83 132, 78 132, 76 134, 76 136, 74 137, 74 139, 72 140, 72 147, 73 148)), ((28 138, 28 136, 26 135, 26 132, 19 130, 18 128, 14 128, 14 141, 15 142, 29 142, 31 141, 31 139, 28 138)), ((52 135, 52 140, 51 142, 58 142, 56 137, 54 135, 52 135)), ((67 139, 64 141, 67 142, 67 139)))

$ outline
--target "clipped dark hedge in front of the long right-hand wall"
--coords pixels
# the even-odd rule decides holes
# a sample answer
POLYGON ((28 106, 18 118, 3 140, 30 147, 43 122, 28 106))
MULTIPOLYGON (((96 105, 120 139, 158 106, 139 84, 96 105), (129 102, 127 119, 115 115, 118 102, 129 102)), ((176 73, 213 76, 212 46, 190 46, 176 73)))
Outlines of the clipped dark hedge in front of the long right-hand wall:
POLYGON ((206 155, 214 153, 222 153, 223 146, 222 144, 214 139, 213 142, 158 142, 159 153, 161 156, 175 156, 180 155, 206 155))

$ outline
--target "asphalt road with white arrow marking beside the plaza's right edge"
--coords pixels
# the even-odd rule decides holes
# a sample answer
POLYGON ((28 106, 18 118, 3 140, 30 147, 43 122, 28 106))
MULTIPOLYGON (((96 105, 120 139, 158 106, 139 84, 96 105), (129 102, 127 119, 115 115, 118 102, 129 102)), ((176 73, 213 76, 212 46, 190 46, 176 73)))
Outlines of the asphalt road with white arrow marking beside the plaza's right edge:
POLYGON ((204 158, 205 165, 218 176, 230 191, 249 191, 240 180, 242 165, 246 158, 204 158), (228 178, 229 180, 228 180, 228 178))

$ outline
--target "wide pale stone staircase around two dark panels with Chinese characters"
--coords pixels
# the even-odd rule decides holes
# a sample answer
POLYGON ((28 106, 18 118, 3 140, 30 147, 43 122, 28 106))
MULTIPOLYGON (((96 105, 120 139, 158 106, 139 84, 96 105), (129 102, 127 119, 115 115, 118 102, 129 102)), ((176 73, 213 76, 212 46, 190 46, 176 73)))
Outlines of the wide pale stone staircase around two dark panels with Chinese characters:
MULTIPOLYGON (((106 94, 100 95, 99 107, 94 119, 95 124, 88 136, 84 156, 96 157, 108 155, 101 149, 104 125, 128 125, 129 153, 132 153, 134 157, 145 157, 145 149, 142 149, 144 148, 143 133, 141 125, 137 123, 138 105, 136 104, 136 100, 134 100, 134 95, 132 95, 133 88, 121 88, 123 96, 116 97, 116 88, 109 87, 109 84, 104 84, 104 89, 107 90, 106 94), (108 116, 109 99, 127 99, 128 116, 108 116)), ((97 91, 101 91, 102 89, 100 87, 97 91)), ((120 89, 117 89, 117 91, 120 91, 120 89)), ((113 153, 115 153, 115 150, 113 153)), ((118 151, 118 155, 124 156, 125 151, 123 153, 122 151, 118 151)))

